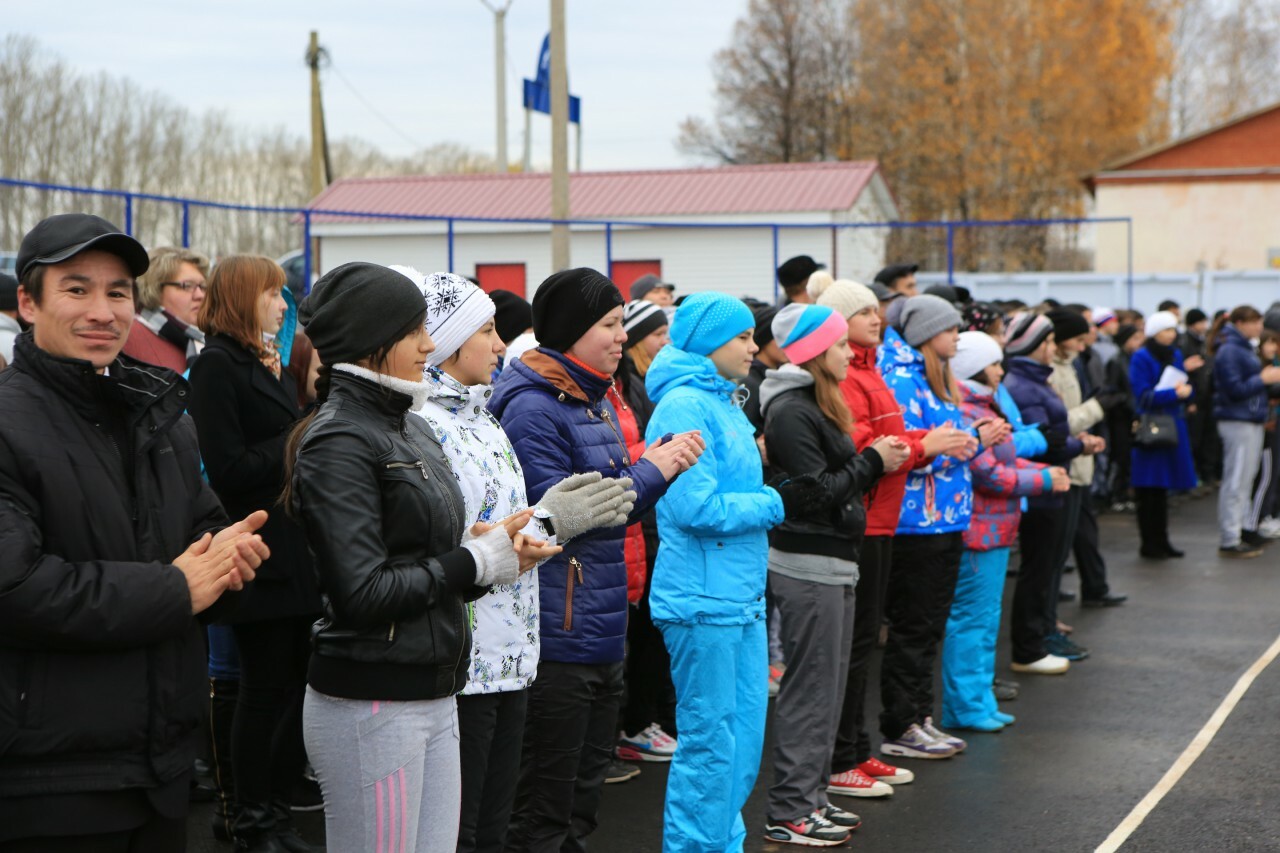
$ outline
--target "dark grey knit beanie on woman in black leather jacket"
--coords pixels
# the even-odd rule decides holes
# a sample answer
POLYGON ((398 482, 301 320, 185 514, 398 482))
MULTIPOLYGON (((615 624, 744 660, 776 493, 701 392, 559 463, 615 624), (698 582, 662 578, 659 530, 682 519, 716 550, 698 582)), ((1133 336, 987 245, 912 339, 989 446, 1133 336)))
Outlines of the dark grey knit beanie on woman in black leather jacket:
POLYGON ((325 273, 302 301, 298 321, 321 364, 353 362, 394 343, 415 315, 425 316, 417 284, 393 269, 356 261, 325 273))

